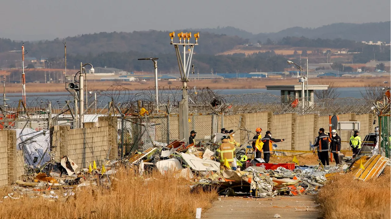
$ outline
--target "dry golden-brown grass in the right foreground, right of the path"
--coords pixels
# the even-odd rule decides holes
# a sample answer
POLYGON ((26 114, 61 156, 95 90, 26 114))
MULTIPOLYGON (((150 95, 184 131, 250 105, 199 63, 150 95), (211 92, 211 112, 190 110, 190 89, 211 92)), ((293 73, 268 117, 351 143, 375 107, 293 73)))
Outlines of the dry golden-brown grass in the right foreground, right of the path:
POLYGON ((327 219, 380 219, 391 216, 391 168, 379 178, 362 182, 337 175, 321 189, 317 201, 327 219))

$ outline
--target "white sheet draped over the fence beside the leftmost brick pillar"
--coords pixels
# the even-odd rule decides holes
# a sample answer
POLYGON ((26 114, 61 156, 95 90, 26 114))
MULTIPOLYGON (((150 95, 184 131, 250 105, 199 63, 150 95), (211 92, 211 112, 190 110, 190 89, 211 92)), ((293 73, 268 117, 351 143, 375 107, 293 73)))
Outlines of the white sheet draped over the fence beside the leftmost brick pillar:
POLYGON ((25 163, 36 166, 50 160, 48 155, 50 152, 50 134, 49 131, 46 131, 43 135, 43 132, 43 130, 35 131, 29 128, 25 128, 23 132, 22 129, 16 129, 16 148, 23 150, 25 163), (36 162, 34 162, 34 158, 36 162))

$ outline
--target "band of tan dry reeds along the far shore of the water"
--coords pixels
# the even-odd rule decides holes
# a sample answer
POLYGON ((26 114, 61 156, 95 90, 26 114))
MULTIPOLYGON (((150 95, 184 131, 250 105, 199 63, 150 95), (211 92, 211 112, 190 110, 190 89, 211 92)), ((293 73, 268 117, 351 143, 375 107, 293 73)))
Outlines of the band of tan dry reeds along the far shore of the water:
MULTIPOLYGON (((366 87, 368 84, 378 83, 379 85, 383 83, 383 81, 387 81, 389 78, 326 78, 324 81, 334 81, 337 87, 366 87)), ((309 84, 319 84, 320 79, 318 78, 310 78, 309 84)), ((88 90, 107 90, 110 86, 121 85, 123 87, 129 88, 131 90, 141 90, 148 87, 154 86, 154 81, 146 81, 142 83, 138 82, 114 82, 114 81, 88 81, 88 90)), ((159 81, 159 86, 181 86, 182 83, 180 81, 159 81)), ((276 79, 276 78, 245 78, 245 79, 222 79, 222 80, 192 80, 188 82, 188 86, 197 87, 197 88, 205 88, 209 87, 215 90, 221 89, 257 89, 257 88, 266 88, 266 85, 300 85, 297 82, 297 79, 276 79)), ((381 86, 381 85, 380 85, 381 86)), ((5 87, 6 93, 21 93, 22 85, 21 84, 6 84, 5 87)), ((66 92, 65 84, 62 83, 50 83, 50 84, 35 84, 35 83, 27 83, 26 85, 27 95, 31 92, 66 92)))

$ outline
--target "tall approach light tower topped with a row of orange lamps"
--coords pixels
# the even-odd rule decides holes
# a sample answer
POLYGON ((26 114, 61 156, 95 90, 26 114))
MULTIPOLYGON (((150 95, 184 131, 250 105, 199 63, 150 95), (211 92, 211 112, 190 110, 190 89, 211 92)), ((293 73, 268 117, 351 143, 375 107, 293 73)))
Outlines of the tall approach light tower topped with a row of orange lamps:
MULTIPOLYGON (((192 38, 192 33, 179 33, 179 43, 173 42, 175 38, 175 32, 170 33, 171 42, 170 44, 175 46, 176 58, 178 60, 179 73, 181 74, 182 81, 182 99, 179 101, 179 139, 185 139, 188 141, 189 135, 189 106, 188 106, 188 96, 187 96, 187 82, 189 81, 189 72, 190 64, 192 63, 193 58, 193 49, 195 45, 198 45, 199 32, 194 34, 195 43, 190 43, 190 38, 192 38), (183 39, 183 42, 182 42, 183 39), (179 46, 183 46, 183 60, 181 57, 181 52, 179 51, 179 46), (186 60, 186 46, 188 46, 188 59, 186 60)), ((188 143, 188 142, 187 142, 188 143)))

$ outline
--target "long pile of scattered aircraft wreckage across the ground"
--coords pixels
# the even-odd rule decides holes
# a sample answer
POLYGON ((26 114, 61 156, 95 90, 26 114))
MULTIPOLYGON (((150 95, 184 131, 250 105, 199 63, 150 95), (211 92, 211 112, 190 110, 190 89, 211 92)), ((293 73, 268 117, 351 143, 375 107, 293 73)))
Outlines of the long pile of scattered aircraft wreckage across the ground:
MULTIPOLYGON (((41 167, 27 166, 26 174, 16 181, 13 190, 31 193, 31 197, 41 195, 44 198, 56 199, 56 188, 66 189, 63 196, 74 195, 75 189, 87 185, 109 188, 115 179, 113 174, 116 173, 116 168, 122 165, 136 171, 140 176, 145 171, 157 169, 162 175, 171 174, 176 178, 184 178, 193 189, 217 188, 221 195, 273 197, 316 193, 326 183, 327 178, 349 171, 353 172, 355 178, 365 181, 378 177, 390 161, 381 155, 355 159, 345 156, 343 165, 332 167, 323 166, 321 163, 313 166, 295 166, 293 163, 265 164, 262 159, 257 159, 242 163, 242 168, 237 170, 221 171, 220 162, 216 162, 213 156, 215 146, 206 144, 194 147, 183 141, 174 141, 170 145, 159 145, 143 152, 135 152, 126 159, 103 162, 102 168, 97 168, 93 161, 93 165, 81 170, 65 156, 58 163, 52 159, 41 167), (52 190, 48 192, 50 189, 52 190), (45 192, 39 193, 40 191, 45 192)), ((9 193, 4 198, 18 197, 9 193)))

